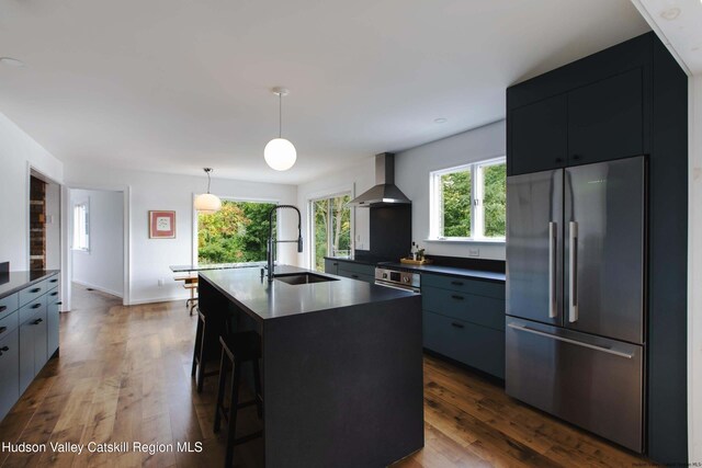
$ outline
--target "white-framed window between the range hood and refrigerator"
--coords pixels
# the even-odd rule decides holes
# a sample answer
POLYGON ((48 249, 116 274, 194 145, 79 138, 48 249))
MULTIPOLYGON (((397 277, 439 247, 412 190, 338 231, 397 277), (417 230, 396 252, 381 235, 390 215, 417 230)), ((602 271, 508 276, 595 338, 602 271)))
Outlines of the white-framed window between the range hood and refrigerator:
POLYGON ((478 161, 430 174, 430 238, 505 241, 505 158, 478 161))

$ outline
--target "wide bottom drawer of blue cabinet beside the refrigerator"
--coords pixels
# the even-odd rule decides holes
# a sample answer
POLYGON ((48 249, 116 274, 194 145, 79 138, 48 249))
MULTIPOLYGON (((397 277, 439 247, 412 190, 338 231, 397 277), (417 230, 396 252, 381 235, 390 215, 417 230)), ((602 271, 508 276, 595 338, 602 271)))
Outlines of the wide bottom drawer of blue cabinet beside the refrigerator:
POLYGON ((505 378, 505 333, 424 311, 424 347, 505 378))

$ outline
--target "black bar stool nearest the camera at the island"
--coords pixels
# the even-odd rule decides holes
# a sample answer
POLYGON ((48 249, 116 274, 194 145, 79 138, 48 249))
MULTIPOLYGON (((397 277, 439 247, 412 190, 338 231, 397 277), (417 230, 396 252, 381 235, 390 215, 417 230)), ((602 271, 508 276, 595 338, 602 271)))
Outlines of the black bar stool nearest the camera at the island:
POLYGON ((219 366, 219 386, 217 390, 217 404, 215 407, 214 432, 219 432, 222 418, 227 420, 227 455, 225 467, 230 467, 234 461, 234 446, 244 444, 263 435, 263 431, 257 431, 241 437, 236 437, 237 410, 256 404, 259 418, 263 416, 263 399, 261 393, 261 372, 259 359, 261 358, 261 338, 252 331, 220 335, 222 363, 219 366), (227 361, 229 364, 227 364, 227 361), (251 363, 253 367, 253 386, 256 396, 253 400, 239 403, 239 385, 241 384, 241 365, 251 363), (227 367, 233 367, 231 391, 229 393, 229 408, 224 406, 224 392, 227 367))

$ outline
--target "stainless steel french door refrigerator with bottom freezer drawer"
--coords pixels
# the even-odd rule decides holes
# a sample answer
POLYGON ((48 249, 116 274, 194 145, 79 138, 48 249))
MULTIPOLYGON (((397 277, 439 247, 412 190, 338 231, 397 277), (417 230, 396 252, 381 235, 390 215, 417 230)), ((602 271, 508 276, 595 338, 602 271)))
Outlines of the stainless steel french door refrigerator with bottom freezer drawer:
POLYGON ((643 452, 644 157, 507 180, 507 393, 643 452))

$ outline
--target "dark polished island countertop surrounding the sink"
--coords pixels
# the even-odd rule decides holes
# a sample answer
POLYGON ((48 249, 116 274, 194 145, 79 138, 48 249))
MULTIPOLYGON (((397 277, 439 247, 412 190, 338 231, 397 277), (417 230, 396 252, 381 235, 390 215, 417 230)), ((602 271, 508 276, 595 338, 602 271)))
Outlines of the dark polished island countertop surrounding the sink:
MULTIPOLYGON (((276 274, 305 272, 309 271, 287 265, 275 269, 276 274)), ((261 278, 258 269, 211 270, 201 272, 200 276, 257 321, 415 295, 327 273, 321 276, 333 277, 337 281, 302 285, 290 285, 281 281, 269 283, 268 278, 261 278)))

